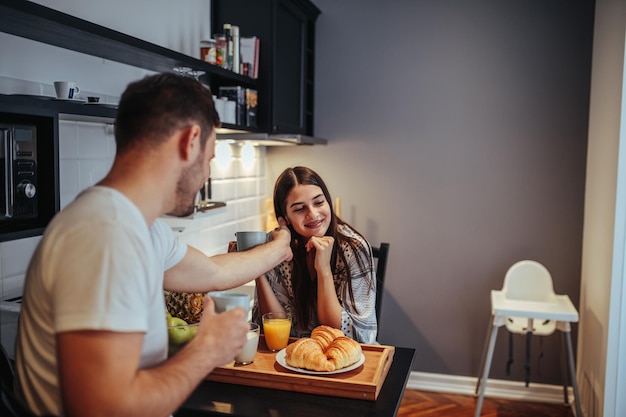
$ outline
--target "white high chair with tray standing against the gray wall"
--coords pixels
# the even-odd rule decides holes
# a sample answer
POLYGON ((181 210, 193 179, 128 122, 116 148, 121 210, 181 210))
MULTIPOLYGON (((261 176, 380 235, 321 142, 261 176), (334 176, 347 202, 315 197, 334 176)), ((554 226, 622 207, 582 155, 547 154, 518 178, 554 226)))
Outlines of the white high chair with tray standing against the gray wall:
MULTIPOLYGON (((525 260, 509 268, 502 290, 491 291, 491 326, 483 350, 482 377, 476 383, 476 412, 474 417, 480 416, 489 377, 489 369, 493 359, 493 350, 496 344, 498 329, 506 326, 511 333, 547 336, 558 329, 562 332, 562 342, 566 345, 569 372, 574 389, 576 415, 582 416, 576 383, 576 368, 572 350, 570 323, 578 322, 578 311, 567 295, 554 293, 552 276, 539 262, 525 260)), ((527 349, 529 340, 527 341, 527 349)), ((528 358, 527 358, 528 359, 528 358)), ((563 397, 568 404, 567 372, 564 358, 561 360, 563 372, 563 397)), ((528 372, 528 368, 527 368, 528 372)), ((528 373, 527 381, 528 385, 528 373)))

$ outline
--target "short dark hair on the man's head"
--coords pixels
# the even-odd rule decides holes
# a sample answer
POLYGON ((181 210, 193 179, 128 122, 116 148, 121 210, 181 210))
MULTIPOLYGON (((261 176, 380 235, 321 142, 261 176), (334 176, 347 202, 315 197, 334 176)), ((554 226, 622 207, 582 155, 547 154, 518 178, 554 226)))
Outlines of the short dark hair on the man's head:
POLYGON ((211 92, 193 78, 156 74, 132 82, 120 99, 115 119, 117 152, 135 144, 157 145, 191 124, 201 128, 204 147, 211 132, 220 126, 211 92))

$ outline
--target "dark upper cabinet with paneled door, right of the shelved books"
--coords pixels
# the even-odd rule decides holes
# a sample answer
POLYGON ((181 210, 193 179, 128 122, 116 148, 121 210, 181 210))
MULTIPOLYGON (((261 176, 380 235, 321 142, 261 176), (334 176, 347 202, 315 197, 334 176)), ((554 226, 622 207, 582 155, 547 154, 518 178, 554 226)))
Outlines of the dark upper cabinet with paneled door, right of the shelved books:
POLYGON ((313 135, 315 20, 308 0, 213 0, 212 30, 239 26, 257 36, 258 127, 272 134, 313 135))

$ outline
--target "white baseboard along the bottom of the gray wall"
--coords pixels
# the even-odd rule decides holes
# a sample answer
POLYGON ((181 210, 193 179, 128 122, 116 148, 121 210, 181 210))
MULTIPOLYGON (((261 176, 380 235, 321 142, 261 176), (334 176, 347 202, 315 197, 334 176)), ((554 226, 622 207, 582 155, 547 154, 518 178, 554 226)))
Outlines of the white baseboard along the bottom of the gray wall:
MULTIPOLYGON (((406 387, 420 391, 475 395, 477 381, 478 378, 475 377, 411 372, 406 387)), ((574 395, 571 387, 568 393, 569 401, 573 404, 574 395)), ((485 397, 563 404, 563 387, 531 382, 526 388, 523 382, 489 379, 485 397)))

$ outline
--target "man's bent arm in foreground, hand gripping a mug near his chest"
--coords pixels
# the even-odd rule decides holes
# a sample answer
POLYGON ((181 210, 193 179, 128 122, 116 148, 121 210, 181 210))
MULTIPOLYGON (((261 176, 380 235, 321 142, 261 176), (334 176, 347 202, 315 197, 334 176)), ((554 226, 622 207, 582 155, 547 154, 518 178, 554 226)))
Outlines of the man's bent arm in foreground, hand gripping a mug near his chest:
POLYGON ((65 415, 168 416, 246 341, 242 308, 215 314, 205 300, 196 337, 161 365, 139 369, 143 333, 70 331, 57 335, 65 415))

